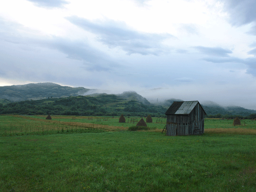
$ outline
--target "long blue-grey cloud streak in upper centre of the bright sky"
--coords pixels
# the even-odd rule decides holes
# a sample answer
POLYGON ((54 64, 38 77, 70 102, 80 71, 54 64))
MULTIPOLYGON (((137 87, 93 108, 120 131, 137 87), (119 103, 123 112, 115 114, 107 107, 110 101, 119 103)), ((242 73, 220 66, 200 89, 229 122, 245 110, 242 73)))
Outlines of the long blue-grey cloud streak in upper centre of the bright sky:
POLYGON ((124 24, 116 23, 112 20, 92 23, 87 19, 75 16, 67 17, 67 19, 72 24, 97 34, 98 40, 108 45, 109 48, 119 47, 128 55, 136 53, 141 55, 158 55, 159 53, 168 51, 161 45, 161 41, 167 38, 174 38, 170 34, 159 35, 133 31, 128 29, 124 24))

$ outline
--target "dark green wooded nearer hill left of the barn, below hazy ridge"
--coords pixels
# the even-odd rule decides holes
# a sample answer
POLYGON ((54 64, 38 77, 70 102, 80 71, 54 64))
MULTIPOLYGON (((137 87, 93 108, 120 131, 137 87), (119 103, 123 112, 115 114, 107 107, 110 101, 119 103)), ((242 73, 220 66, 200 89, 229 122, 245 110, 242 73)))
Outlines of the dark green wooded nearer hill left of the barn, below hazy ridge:
POLYGON ((77 96, 49 98, 0 104, 0 114, 88 115, 88 116, 165 116, 166 109, 153 104, 102 94, 97 97, 77 96))

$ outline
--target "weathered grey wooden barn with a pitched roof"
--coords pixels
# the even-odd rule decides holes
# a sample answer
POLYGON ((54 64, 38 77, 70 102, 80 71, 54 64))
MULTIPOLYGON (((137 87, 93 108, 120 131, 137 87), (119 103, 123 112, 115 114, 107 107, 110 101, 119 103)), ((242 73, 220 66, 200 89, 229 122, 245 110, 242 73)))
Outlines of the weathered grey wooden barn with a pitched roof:
POLYGON ((165 112, 166 135, 200 135, 204 133, 204 109, 198 101, 174 101, 165 112))

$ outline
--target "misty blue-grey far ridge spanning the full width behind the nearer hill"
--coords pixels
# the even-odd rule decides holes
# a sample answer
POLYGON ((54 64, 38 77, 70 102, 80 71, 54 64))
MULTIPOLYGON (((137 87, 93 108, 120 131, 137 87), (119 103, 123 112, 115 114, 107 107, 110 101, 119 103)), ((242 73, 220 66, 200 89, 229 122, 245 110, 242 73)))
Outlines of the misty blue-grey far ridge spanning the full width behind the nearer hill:
MULTIPOLYGON (((153 90, 152 90, 153 91, 153 90)), ((60 86, 56 83, 30 83, 19 86, 4 86, 0 87, 0 103, 7 104, 10 102, 26 101, 26 100, 40 100, 48 98, 67 98, 70 96, 90 96, 90 97, 103 97, 109 94, 102 93, 102 90, 86 89, 83 87, 72 88, 68 86, 60 86)), ((116 95, 112 102, 117 102, 115 99, 123 99, 125 101, 136 101, 143 105, 156 105, 168 108, 174 101, 182 101, 181 99, 170 98, 166 100, 155 100, 156 102, 149 102, 146 98, 142 97, 134 91, 127 91, 116 95)), ((118 101, 119 102, 119 101, 118 101)), ((241 115, 248 116, 256 113, 255 110, 248 110, 240 106, 221 106, 213 101, 200 102, 207 115, 241 115)), ((131 103, 130 103, 131 104, 131 103)), ((127 108, 126 108, 127 109, 127 108)), ((131 108, 132 109, 132 108, 131 108)), ((130 109, 130 110, 131 110, 130 109)), ((136 110, 136 109, 134 109, 136 110)))

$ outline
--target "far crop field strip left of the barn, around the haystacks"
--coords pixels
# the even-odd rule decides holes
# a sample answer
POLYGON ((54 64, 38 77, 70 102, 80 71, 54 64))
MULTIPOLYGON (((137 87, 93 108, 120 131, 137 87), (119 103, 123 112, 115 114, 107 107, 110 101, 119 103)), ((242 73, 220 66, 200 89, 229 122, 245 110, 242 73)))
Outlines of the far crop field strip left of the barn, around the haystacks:
MULTIPOLYGON (((52 120, 46 120, 46 117, 1 115, 0 136, 126 131, 129 126, 136 125, 141 119, 139 117, 131 117, 126 118, 125 123, 119 123, 119 117, 52 116, 52 120)), ((148 126, 160 131, 165 123, 165 118, 153 118, 153 123, 148 123, 148 126)))

